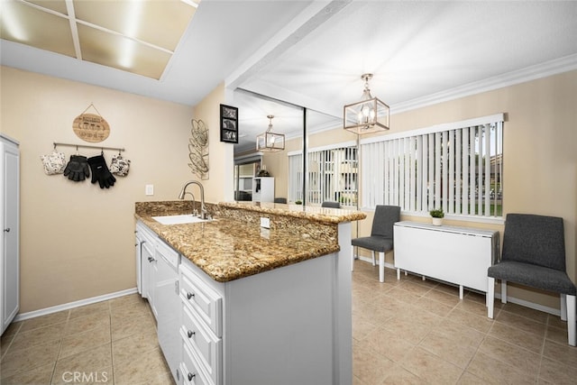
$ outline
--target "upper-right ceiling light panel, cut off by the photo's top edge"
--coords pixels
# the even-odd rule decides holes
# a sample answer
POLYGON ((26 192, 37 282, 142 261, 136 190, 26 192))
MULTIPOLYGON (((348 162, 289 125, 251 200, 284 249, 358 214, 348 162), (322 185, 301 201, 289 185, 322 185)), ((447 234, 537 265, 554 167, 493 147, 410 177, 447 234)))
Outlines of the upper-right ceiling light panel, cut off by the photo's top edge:
POLYGON ((95 24, 165 50, 175 50, 196 8, 181 1, 75 0, 78 22, 95 24))

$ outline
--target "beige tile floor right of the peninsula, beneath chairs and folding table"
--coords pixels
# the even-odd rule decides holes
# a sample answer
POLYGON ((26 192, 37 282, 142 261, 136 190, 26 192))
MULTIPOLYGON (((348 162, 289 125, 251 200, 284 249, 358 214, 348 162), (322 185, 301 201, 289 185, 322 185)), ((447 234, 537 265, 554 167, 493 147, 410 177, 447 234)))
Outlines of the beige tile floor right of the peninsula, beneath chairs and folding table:
POLYGON ((353 384, 575 384, 577 348, 558 316, 355 261, 353 384))

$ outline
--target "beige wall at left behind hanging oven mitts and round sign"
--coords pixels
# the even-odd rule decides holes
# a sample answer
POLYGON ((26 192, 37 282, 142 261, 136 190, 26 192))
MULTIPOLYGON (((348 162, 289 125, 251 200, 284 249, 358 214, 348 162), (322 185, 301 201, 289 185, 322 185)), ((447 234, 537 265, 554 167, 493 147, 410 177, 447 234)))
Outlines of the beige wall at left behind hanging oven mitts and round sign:
MULTIPOLYGON (((134 202, 176 199, 186 180, 197 179, 188 168, 193 108, 0 70, 0 127, 21 144, 21 312, 134 288, 134 202), (100 144, 124 147, 123 155, 132 161, 128 176, 117 177, 110 189, 47 176, 39 158, 52 151, 52 142, 90 144, 75 135, 72 122, 91 103, 110 124, 110 136, 100 144), (154 196, 144 195, 146 184, 154 185, 154 196)), ((224 163, 232 159, 232 146, 222 148, 218 139, 221 88, 195 110, 210 130, 210 179, 203 181, 210 202, 222 200, 222 176, 232 172, 232 160, 224 163)), ((76 152, 59 150, 67 159, 76 152)), ((94 156, 100 151, 78 152, 94 156)), ((105 159, 109 162, 114 153, 105 151, 105 159)))

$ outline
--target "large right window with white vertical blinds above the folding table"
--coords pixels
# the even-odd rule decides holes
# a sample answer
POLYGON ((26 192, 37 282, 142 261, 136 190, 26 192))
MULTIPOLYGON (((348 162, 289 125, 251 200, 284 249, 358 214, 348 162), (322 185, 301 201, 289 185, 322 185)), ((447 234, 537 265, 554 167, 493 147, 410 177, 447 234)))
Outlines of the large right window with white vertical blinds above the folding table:
POLYGON ((361 142, 362 206, 501 217, 503 115, 361 142))

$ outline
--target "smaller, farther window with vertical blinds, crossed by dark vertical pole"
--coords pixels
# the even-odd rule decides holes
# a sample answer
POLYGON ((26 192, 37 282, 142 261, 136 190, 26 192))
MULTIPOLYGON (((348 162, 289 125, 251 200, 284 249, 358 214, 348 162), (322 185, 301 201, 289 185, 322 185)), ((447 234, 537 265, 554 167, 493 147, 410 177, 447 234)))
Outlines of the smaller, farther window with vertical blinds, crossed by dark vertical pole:
MULTIPOLYGON (((314 149, 307 154, 307 204, 324 201, 355 206, 357 202, 357 149, 349 143, 314 149)), ((289 154, 289 200, 303 199, 302 153, 289 154)))

